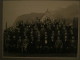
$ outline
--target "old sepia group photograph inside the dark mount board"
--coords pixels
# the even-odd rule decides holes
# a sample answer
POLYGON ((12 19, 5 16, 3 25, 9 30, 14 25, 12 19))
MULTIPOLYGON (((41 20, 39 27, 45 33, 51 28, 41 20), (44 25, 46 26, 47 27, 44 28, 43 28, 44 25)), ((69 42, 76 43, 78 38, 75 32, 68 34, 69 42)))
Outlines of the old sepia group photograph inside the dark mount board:
POLYGON ((3 57, 77 57, 79 1, 3 1, 3 57))

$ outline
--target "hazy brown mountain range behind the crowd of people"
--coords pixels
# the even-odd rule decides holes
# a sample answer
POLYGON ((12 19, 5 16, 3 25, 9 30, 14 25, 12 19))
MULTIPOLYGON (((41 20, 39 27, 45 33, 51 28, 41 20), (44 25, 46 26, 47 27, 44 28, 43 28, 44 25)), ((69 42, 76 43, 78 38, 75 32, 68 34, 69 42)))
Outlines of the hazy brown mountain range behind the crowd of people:
POLYGON ((60 8, 55 11, 49 11, 47 10, 44 13, 30 13, 30 14, 24 14, 19 16, 15 23, 18 21, 23 21, 24 23, 33 23, 36 21, 36 18, 38 17, 40 21, 44 22, 44 20, 49 17, 52 21, 56 18, 65 18, 67 19, 67 23, 71 23, 72 19, 74 17, 79 17, 80 16, 80 7, 77 4, 70 5, 66 8, 60 8))

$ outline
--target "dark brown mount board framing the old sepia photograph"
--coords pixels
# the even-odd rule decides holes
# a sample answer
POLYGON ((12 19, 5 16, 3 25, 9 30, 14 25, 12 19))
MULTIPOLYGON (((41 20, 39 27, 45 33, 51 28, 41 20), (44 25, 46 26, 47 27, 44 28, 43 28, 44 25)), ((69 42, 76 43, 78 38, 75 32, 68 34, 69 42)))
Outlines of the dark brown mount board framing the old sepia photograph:
MULTIPOLYGON (((4 0, 4 1, 15 1, 15 0, 4 0)), ((17 0, 22 1, 22 0, 17 0)), ((24 0, 25 1, 25 0, 24 0)), ((28 1, 28 0, 26 0, 28 1)), ((30 0, 31 1, 31 0, 30 0)), ((36 1, 36 0, 34 0, 36 1)), ((39 0, 38 0, 39 1, 39 0)), ((43 1, 43 0, 40 0, 43 1)), ((44 0, 48 1, 48 0, 44 0)), ((55 1, 55 0, 51 0, 55 1)), ((68 0, 57 0, 57 1, 68 1, 68 0)), ((77 0, 69 0, 69 1, 77 1, 77 0)), ((4 57, 3 56, 3 1, 0 1, 0 60, 80 60, 80 17, 78 20, 78 51, 77 51, 77 57, 4 57)))

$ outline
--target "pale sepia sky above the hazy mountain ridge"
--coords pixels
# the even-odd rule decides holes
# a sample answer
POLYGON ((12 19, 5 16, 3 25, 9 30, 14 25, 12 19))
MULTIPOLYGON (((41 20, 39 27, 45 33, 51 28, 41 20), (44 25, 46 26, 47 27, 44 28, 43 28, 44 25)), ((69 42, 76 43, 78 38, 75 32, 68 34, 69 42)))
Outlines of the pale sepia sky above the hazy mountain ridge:
POLYGON ((79 4, 78 1, 3 1, 3 29, 10 27, 18 16, 29 13, 44 13, 79 4))

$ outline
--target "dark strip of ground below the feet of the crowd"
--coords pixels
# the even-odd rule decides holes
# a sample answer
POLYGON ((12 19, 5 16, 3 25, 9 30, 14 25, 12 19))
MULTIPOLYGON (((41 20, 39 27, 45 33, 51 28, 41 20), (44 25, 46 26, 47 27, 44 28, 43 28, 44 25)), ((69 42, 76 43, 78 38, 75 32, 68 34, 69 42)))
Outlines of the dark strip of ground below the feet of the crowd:
POLYGON ((76 57, 76 53, 21 54, 4 52, 4 57, 76 57))

